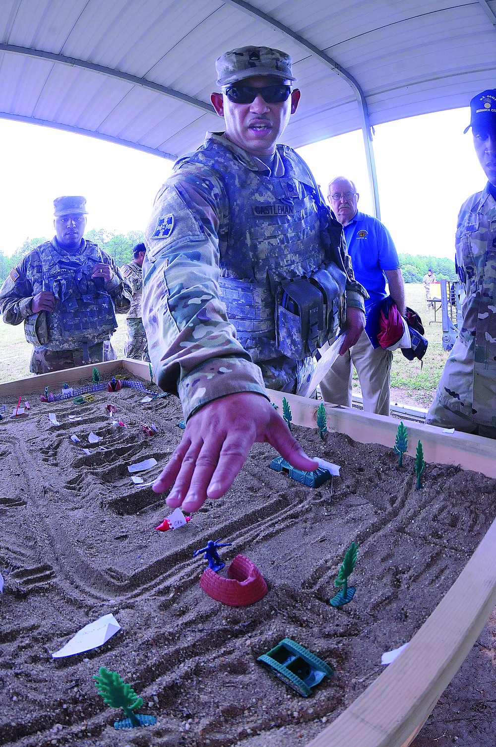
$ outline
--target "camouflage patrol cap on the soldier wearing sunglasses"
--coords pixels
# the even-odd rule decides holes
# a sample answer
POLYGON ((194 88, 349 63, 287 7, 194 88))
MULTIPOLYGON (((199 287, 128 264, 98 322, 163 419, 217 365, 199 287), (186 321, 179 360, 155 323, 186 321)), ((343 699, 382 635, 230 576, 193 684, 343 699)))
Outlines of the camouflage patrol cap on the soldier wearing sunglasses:
POLYGON ((246 46, 224 52, 215 61, 217 85, 229 86, 253 75, 273 75, 284 81, 296 81, 287 52, 271 47, 246 46))

